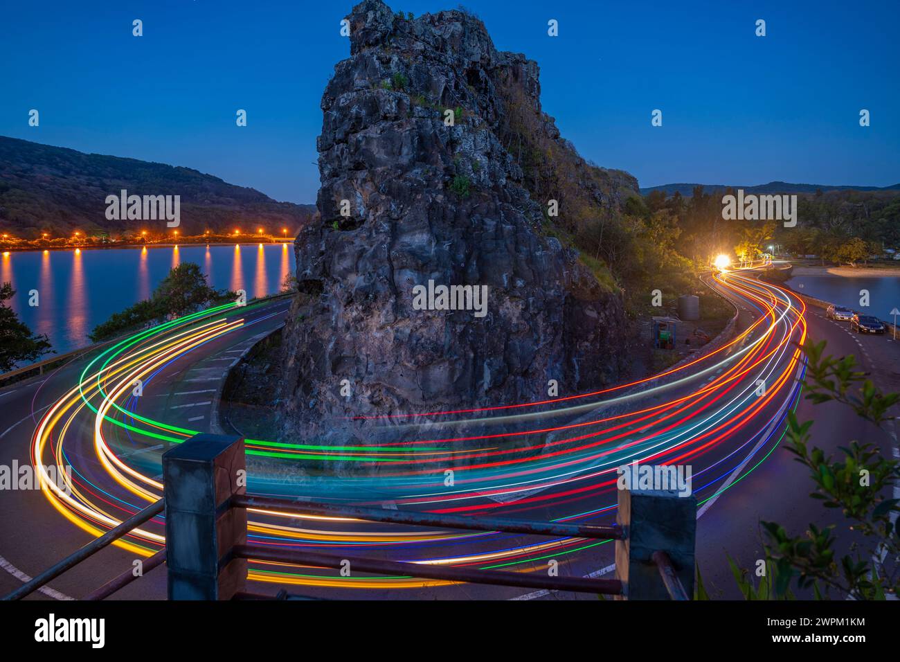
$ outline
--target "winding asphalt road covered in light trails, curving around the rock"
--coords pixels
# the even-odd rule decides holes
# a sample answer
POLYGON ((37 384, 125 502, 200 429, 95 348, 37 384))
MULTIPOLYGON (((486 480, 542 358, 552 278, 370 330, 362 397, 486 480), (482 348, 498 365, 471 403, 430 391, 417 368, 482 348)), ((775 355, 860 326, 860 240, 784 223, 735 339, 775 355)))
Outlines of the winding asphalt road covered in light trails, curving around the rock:
MULTIPOLYGON (((789 290, 734 271, 711 283, 738 311, 734 339, 662 375, 543 403, 369 421, 402 441, 335 448, 315 440, 247 440, 248 492, 331 503, 529 520, 615 519, 617 467, 691 467, 698 498, 698 566, 711 594, 738 597, 725 554, 743 567, 762 558, 759 521, 802 531, 845 527, 808 498, 806 469, 780 449, 785 417, 815 419, 826 451, 851 439, 896 455, 896 438, 839 405, 802 399, 807 336, 828 353, 854 354, 877 383, 894 387, 900 343, 851 334, 789 290), (439 422, 440 424, 435 424, 439 422), (299 467, 304 467, 302 470, 299 467), (339 471, 331 469, 338 467, 339 471), (447 469, 453 469, 447 480, 447 469)), ((52 374, 0 390, 0 465, 71 467, 44 472, 43 489, 0 491, 0 594, 13 590, 161 495, 161 456, 198 431, 221 431, 215 403, 228 368, 284 322, 284 299, 221 306, 141 331, 52 374), (135 380, 142 391, 135 392, 135 380)), ((604 576, 609 541, 497 532, 423 531, 399 525, 248 512, 255 544, 512 572, 604 576)), ((30 599, 78 598, 161 548, 157 518, 58 577, 30 599)), ((165 567, 115 594, 162 599, 165 567)), ((349 576, 323 568, 251 562, 248 590, 361 599, 527 598, 565 593, 449 585, 410 577, 349 576), (339 593, 336 594, 335 590, 339 593)))

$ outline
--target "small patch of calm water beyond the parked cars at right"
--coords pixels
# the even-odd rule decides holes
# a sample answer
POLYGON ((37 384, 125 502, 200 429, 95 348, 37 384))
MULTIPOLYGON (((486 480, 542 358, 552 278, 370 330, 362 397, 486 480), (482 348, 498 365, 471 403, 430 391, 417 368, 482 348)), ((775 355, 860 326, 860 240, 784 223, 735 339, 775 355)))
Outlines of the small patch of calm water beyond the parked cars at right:
POLYGON ((881 320, 893 320, 890 312, 900 308, 900 277, 797 276, 788 280, 797 292, 840 304, 881 320), (860 290, 869 290, 869 307, 860 306, 860 290))

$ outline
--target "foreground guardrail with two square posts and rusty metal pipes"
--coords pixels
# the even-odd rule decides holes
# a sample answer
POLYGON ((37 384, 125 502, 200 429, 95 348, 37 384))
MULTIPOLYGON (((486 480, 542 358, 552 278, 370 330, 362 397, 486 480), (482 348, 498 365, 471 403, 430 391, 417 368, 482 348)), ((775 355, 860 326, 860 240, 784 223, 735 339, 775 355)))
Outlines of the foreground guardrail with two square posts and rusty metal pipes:
MULTIPOLYGON (((163 498, 121 522, 4 599, 20 599, 70 567, 165 512, 166 548, 144 562, 144 570, 167 566, 169 600, 304 599, 247 592, 247 562, 350 568, 354 573, 415 576, 473 583, 614 595, 621 600, 689 600, 694 593, 697 500, 674 491, 618 491, 617 521, 610 526, 554 521, 460 517, 429 512, 276 499, 246 494, 245 445, 239 436, 197 434, 163 455, 163 498), (500 531, 528 536, 614 540, 616 576, 595 579, 537 572, 482 570, 428 563, 347 557, 276 545, 247 544, 247 510, 334 516, 407 526, 500 531)), ((102 600, 130 584, 127 572, 85 596, 102 600)))

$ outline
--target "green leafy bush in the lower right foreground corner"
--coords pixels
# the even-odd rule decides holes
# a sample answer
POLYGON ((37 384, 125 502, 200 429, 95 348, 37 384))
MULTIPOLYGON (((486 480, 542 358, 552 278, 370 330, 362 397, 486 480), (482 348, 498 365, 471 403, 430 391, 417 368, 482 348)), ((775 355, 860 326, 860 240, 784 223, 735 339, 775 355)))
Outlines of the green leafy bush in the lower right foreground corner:
MULTIPOLYGON (((895 419, 890 411, 900 403, 900 394, 882 393, 865 372, 857 369, 853 355, 833 358, 825 355, 824 349, 824 340, 806 340, 803 345, 806 399, 814 404, 833 402, 850 407, 861 421, 887 431, 887 423, 895 419)), ((900 592, 896 523, 900 499, 893 496, 900 485, 900 462, 885 457, 877 443, 857 440, 839 447, 837 457, 828 456, 823 449, 810 445, 813 424, 813 420, 799 422, 796 414, 788 411, 785 448, 809 470, 815 488, 810 497, 825 508, 842 512, 847 526, 836 530, 834 526, 822 528, 810 523, 806 531, 795 535, 778 522, 762 521, 767 539, 766 565, 777 571, 762 599, 791 599, 792 581, 800 590, 811 590, 817 600, 894 599, 900 592), (859 540, 848 545, 837 539, 837 531, 854 531, 859 540), (839 556, 843 549, 850 552, 839 556)), ((758 598, 749 591, 752 585, 748 588, 741 582, 741 577, 749 573, 737 568, 731 559, 729 563, 744 596, 758 598)))

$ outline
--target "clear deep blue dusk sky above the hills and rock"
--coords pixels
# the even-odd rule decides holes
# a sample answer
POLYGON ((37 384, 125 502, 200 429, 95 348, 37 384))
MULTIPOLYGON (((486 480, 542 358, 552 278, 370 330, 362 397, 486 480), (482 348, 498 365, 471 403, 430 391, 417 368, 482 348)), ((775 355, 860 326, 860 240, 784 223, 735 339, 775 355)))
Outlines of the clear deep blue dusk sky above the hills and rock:
MULTIPOLYGON (((353 4, 5 3, 0 134, 314 202, 320 97, 349 55, 339 22, 353 4), (39 127, 28 126, 31 108, 39 127)), ((389 5, 418 16, 457 3, 389 5)), ((581 155, 641 186, 900 182, 896 0, 464 5, 498 49, 536 59, 545 111, 581 155), (662 127, 651 126, 654 109, 662 127)))

